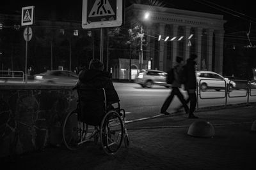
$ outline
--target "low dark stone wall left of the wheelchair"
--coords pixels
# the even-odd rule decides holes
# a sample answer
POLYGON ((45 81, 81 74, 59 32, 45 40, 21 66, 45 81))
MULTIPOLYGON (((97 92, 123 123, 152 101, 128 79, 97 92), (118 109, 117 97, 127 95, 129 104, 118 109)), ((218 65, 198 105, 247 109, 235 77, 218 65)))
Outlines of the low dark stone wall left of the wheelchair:
POLYGON ((76 104, 72 86, 0 85, 0 157, 61 145, 65 116, 76 104))

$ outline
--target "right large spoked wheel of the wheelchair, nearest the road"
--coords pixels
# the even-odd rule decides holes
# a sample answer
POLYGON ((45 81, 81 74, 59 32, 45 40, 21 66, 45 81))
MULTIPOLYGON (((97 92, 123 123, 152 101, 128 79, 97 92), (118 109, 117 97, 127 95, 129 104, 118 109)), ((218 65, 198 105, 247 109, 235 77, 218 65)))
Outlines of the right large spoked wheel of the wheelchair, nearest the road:
POLYGON ((124 138, 124 125, 116 111, 109 111, 100 125, 100 143, 104 152, 115 155, 124 138))

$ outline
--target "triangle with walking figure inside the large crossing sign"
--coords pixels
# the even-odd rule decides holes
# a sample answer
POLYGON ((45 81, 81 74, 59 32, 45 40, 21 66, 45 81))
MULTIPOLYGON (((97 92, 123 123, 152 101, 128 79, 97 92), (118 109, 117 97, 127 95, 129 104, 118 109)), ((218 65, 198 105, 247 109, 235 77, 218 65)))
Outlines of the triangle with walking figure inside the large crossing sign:
POLYGON ((111 4, 109 4, 109 1, 96 0, 88 17, 102 17, 108 15, 115 15, 111 4))

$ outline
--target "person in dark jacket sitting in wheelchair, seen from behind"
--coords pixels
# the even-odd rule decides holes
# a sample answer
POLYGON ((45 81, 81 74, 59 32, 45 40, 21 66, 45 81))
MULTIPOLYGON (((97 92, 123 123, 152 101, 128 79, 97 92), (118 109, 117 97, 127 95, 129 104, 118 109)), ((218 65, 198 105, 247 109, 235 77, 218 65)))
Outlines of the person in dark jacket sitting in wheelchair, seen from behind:
POLYGON ((104 72, 104 64, 99 59, 92 59, 89 69, 82 69, 79 72, 77 81, 81 101, 81 121, 91 125, 99 125, 104 115, 113 110, 113 103, 118 103, 119 97, 108 73, 104 72), (104 88, 106 93, 107 110, 104 108, 104 88))

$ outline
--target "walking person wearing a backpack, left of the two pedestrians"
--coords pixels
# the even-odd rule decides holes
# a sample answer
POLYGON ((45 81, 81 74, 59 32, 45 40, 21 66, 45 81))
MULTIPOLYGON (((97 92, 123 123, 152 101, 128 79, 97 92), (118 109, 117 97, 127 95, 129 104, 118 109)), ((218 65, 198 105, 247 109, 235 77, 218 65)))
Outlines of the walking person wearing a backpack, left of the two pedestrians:
POLYGON ((172 91, 170 93, 170 96, 166 98, 163 106, 161 107, 161 113, 163 113, 164 115, 170 115, 170 113, 168 113, 166 110, 172 103, 172 99, 175 95, 179 98, 180 102, 184 106, 186 113, 189 113, 188 105, 186 104, 186 101, 184 100, 184 96, 181 94, 179 90, 179 88, 181 87, 181 80, 182 80, 182 78, 180 77, 180 74, 182 73, 183 59, 177 56, 176 62, 177 64, 170 71, 168 71, 168 74, 167 74, 166 81, 168 84, 172 84, 172 91))

